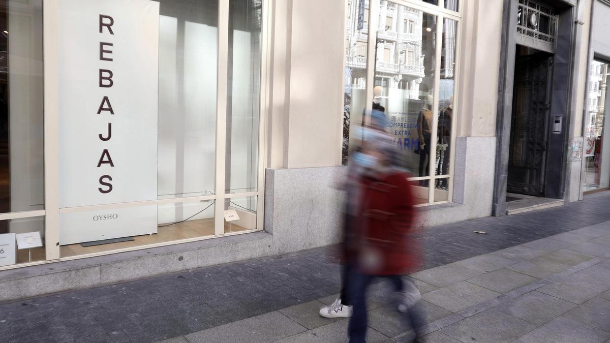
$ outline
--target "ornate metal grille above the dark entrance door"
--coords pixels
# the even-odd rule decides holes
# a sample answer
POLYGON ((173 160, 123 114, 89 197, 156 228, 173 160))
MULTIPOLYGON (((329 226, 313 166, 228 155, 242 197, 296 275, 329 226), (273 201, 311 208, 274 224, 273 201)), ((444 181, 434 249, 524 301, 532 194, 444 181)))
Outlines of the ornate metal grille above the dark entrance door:
POLYGON ((531 0, 519 0, 517 43, 531 48, 555 51, 557 18, 554 10, 531 0))

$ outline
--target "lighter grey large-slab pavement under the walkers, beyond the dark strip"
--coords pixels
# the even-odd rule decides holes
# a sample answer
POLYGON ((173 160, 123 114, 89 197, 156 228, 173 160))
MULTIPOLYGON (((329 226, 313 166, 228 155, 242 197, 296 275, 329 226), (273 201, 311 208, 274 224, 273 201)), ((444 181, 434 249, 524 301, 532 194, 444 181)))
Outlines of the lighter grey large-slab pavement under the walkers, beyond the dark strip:
MULTIPOLYGON (((424 342, 610 342, 610 222, 411 275, 424 342)), ((411 337, 389 285, 371 289, 367 342, 411 337)), ((345 342, 347 319, 317 310, 336 295, 166 342, 345 342)))

